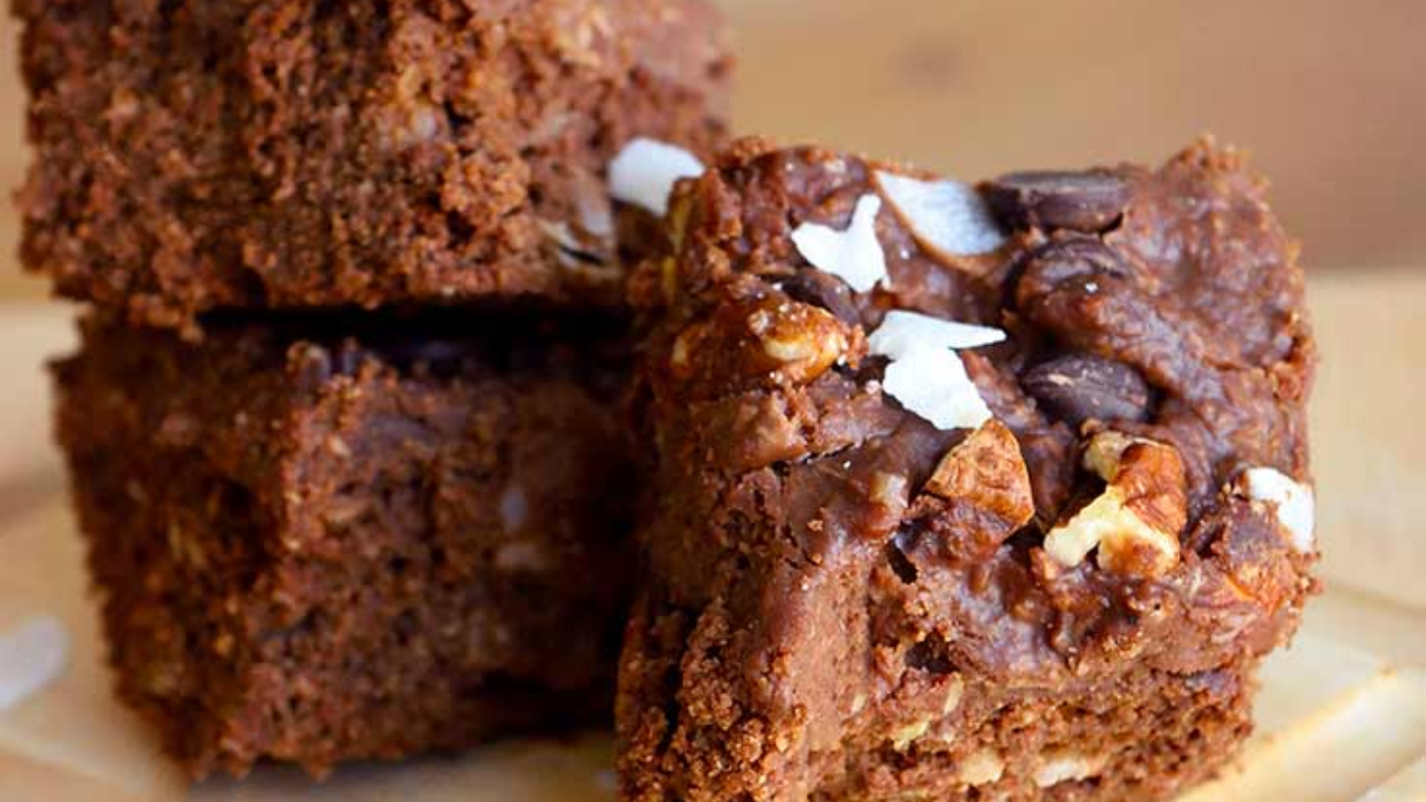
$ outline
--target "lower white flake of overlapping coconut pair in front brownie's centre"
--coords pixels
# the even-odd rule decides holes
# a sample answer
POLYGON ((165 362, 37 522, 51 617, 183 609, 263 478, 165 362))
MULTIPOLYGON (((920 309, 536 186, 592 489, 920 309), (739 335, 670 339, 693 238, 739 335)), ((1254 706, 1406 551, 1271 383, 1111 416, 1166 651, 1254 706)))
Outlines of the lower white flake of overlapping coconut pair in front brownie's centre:
POLYGON ((977 428, 991 418, 990 407, 948 348, 914 348, 890 365, 883 390, 935 428, 977 428))

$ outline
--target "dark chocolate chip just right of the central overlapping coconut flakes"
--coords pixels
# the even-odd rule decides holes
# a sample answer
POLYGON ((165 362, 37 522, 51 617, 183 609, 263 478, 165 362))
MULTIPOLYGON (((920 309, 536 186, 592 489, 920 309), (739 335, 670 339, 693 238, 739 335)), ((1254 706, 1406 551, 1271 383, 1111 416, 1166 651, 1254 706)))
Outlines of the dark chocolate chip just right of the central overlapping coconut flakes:
POLYGON ((1031 368, 1021 385, 1045 411, 1075 428, 1091 418, 1148 420, 1149 385, 1124 362, 1068 354, 1031 368))

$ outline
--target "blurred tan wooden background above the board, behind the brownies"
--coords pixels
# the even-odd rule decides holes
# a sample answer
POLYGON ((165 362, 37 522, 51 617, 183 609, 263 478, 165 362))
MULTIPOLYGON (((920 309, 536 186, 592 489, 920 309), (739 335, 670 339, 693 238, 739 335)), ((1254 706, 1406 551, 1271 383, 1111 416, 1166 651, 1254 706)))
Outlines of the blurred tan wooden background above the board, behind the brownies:
MULTIPOLYGON (((1159 161, 1201 131, 1258 154, 1313 268, 1426 264, 1426 1, 722 0, 743 131, 963 177, 1159 161)), ((0 23, 0 187, 20 181, 0 23)), ((43 295, 11 267, 0 298, 43 295)))

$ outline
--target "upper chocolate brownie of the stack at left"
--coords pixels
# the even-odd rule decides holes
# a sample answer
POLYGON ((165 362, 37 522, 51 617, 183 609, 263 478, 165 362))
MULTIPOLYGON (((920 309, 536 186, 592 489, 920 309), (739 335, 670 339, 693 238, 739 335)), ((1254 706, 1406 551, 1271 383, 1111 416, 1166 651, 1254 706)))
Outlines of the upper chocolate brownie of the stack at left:
POLYGON ((609 160, 723 136, 704 0, 14 0, 23 263, 134 323, 622 295, 609 160), (575 254, 565 253, 570 243, 575 254))

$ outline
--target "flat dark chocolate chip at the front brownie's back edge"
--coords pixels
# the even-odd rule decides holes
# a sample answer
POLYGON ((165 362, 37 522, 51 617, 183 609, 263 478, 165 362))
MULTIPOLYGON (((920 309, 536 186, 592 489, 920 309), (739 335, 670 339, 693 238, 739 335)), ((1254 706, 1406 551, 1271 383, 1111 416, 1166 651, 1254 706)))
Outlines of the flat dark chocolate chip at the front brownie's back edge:
POLYGON ((1012 228, 1068 228, 1095 234, 1129 205, 1129 187, 1114 173, 1011 173, 987 187, 995 215, 1012 228))

